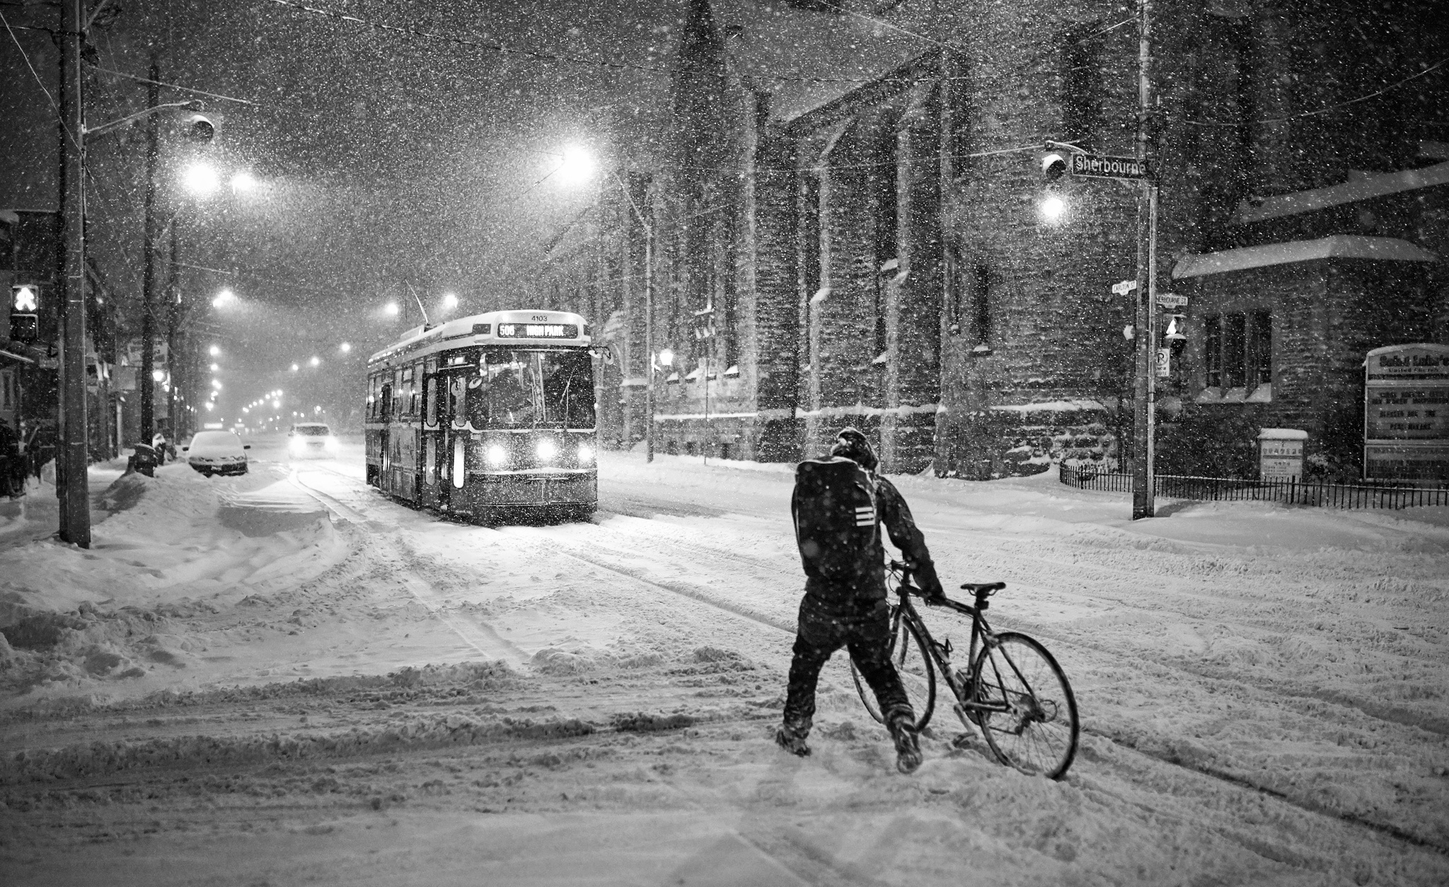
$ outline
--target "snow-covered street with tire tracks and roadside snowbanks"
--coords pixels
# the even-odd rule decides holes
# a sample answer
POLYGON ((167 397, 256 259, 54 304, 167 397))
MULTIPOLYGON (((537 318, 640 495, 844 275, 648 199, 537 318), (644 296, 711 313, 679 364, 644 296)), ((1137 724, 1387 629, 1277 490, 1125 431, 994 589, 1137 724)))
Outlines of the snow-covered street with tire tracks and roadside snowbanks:
POLYGON ((907 778, 843 662, 768 739, 788 467, 603 454, 593 522, 490 529, 254 457, 97 470, 88 552, 0 528, 7 883, 1449 881, 1449 509, 894 478, 1084 723, 1048 783, 939 710, 907 778))

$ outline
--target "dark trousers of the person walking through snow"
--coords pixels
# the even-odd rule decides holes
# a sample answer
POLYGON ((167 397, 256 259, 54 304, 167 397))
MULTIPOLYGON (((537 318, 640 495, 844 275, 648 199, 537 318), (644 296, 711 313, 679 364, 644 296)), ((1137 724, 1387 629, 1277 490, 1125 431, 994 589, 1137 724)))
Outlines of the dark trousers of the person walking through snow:
POLYGON ((890 659, 891 623, 884 600, 861 607, 838 609, 806 596, 800 601, 800 626, 796 632, 794 659, 790 662, 790 690, 785 693, 785 723, 804 735, 814 717, 814 691, 820 668, 830 654, 846 648, 861 677, 871 686, 885 715, 916 720, 906 688, 890 659))

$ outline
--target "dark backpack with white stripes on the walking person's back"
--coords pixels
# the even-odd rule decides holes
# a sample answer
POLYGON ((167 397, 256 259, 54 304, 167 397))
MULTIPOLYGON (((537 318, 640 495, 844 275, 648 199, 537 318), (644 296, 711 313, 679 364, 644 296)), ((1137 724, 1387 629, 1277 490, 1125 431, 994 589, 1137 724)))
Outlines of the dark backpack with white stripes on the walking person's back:
POLYGON ((851 459, 800 462, 791 513, 806 575, 852 583, 880 546, 875 483, 851 459))

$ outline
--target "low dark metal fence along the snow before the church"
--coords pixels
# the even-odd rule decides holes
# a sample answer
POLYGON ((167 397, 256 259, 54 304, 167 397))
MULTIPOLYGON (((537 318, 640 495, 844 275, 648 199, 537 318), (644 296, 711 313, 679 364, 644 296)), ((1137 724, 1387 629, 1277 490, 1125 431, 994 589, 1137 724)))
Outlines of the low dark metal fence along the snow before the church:
MULTIPOLYGON (((1059 480, 1080 490, 1132 493, 1132 474, 1097 471, 1091 467, 1061 465, 1059 480)), ((1159 474, 1153 496, 1214 501, 1259 500, 1310 504, 1330 509, 1411 509, 1449 506, 1449 487, 1400 487, 1388 484, 1333 484, 1297 480, 1243 480, 1159 474)))

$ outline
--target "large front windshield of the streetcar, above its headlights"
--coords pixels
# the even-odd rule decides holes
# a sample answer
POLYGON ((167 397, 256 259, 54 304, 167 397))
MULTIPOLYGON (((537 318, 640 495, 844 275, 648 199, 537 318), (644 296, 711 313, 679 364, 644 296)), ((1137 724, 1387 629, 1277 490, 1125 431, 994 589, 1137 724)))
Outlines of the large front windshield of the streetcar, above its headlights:
POLYGON ((468 380, 474 428, 594 428, 594 372, 587 351, 483 349, 468 380))

